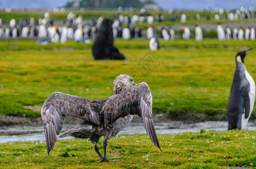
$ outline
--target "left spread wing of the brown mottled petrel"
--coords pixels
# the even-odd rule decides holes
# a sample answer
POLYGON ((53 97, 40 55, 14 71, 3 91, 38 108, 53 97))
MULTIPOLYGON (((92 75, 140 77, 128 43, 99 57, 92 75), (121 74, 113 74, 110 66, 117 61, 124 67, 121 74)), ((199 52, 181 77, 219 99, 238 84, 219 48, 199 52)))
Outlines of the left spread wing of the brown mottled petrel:
POLYGON ((86 122, 100 124, 100 112, 105 101, 92 101, 83 97, 54 92, 41 109, 48 155, 57 141, 66 115, 86 122))

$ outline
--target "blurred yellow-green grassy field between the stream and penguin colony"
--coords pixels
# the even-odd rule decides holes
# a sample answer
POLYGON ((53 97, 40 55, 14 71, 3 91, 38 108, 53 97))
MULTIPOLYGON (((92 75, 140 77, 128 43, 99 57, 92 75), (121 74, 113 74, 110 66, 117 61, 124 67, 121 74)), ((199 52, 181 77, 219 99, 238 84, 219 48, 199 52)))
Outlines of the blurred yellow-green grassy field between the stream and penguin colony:
MULTIPOLYGON (((95 61, 91 45, 36 45, 36 40, 0 41, 0 115, 40 117, 26 105, 41 106, 54 91, 106 99, 113 80, 129 73, 135 82, 147 82, 153 96, 153 113, 172 119, 204 121, 227 117, 229 91, 235 69, 234 55, 255 47, 256 41, 161 41, 150 52, 148 40, 118 39, 115 44, 127 61, 95 61)), ((245 64, 255 79, 256 50, 245 64)), ((252 118, 256 117, 256 110, 252 118)))

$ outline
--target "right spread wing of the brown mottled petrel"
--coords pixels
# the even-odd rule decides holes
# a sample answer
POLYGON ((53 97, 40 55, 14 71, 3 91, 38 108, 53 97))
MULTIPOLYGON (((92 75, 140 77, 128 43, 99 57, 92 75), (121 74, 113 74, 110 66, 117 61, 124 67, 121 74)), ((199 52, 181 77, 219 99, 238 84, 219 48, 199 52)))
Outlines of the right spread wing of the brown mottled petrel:
POLYGON ((103 107, 103 112, 105 128, 120 117, 129 114, 139 115, 143 119, 144 128, 152 143, 160 149, 152 118, 152 95, 147 83, 139 83, 129 90, 109 97, 103 107))

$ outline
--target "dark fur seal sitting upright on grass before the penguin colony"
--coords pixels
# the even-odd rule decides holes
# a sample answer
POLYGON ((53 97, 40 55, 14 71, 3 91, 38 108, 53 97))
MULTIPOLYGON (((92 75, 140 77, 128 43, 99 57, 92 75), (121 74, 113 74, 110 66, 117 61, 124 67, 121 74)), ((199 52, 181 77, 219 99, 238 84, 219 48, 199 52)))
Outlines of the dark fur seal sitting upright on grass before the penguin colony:
POLYGON ((93 57, 97 59, 126 59, 120 54, 118 49, 114 47, 114 37, 112 30, 113 20, 104 19, 100 28, 97 30, 95 42, 92 46, 93 57))

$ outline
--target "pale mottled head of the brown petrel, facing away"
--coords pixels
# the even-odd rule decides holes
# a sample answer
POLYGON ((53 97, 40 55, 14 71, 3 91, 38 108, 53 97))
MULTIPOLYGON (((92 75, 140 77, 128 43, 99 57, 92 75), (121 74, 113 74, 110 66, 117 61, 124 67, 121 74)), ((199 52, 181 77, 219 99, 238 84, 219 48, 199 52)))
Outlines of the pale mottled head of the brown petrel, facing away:
POLYGON ((114 94, 120 94, 121 92, 135 86, 135 82, 130 75, 120 74, 114 79, 114 94))

